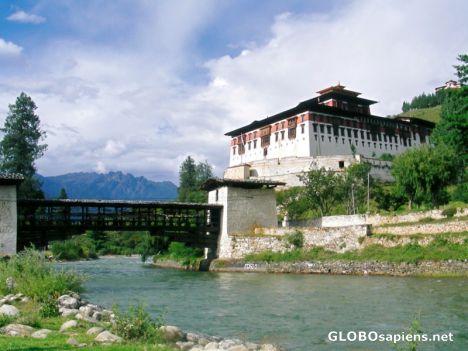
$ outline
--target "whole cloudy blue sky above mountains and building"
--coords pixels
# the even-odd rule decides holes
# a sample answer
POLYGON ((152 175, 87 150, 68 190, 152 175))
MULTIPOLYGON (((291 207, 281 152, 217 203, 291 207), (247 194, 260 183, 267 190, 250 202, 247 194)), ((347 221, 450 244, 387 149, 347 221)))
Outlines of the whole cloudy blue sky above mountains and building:
POLYGON ((224 133, 341 83, 372 113, 455 79, 465 0, 2 0, 0 125, 38 106, 45 176, 122 171, 178 182, 229 162, 224 133))

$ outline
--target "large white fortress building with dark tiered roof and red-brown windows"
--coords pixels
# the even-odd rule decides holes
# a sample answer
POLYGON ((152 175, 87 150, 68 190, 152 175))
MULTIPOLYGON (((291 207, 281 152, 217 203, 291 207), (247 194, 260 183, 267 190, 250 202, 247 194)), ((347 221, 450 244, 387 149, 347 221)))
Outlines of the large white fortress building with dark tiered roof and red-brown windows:
POLYGON ((318 93, 292 109, 226 133, 231 149, 224 176, 299 185, 297 175, 311 167, 340 170, 365 159, 375 175, 386 179, 389 163, 378 158, 427 143, 434 127, 416 118, 372 115, 375 101, 342 85, 318 93))

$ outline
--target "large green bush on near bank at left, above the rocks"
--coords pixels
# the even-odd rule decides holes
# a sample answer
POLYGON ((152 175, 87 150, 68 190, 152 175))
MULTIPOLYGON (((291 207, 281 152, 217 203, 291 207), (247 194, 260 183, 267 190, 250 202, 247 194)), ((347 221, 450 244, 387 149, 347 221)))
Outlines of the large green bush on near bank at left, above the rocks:
MULTIPOLYGON (((70 290, 83 290, 83 276, 54 269, 50 262, 32 248, 20 252, 8 261, 0 262, 0 282, 8 277, 15 281, 12 293, 22 292, 40 302, 57 298, 70 290)), ((10 293, 6 284, 0 284, 0 292, 10 293)))

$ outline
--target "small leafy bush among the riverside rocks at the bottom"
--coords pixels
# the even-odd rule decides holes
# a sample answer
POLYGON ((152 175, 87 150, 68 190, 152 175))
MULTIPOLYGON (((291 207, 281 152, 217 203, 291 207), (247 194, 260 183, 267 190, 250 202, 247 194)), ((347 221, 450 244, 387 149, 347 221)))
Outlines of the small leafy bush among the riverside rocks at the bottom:
POLYGON ((113 308, 115 314, 115 324, 112 329, 125 340, 139 340, 150 342, 161 342, 159 327, 162 323, 162 316, 156 320, 152 319, 141 304, 129 306, 123 312, 118 307, 113 308))

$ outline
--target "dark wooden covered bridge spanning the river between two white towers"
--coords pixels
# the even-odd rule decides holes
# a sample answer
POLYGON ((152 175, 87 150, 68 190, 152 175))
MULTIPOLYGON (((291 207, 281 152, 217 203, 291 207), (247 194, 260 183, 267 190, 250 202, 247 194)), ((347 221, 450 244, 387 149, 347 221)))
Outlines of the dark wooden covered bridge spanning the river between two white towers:
POLYGON ((216 253, 221 205, 113 200, 18 200, 17 248, 86 230, 148 231, 216 253))

